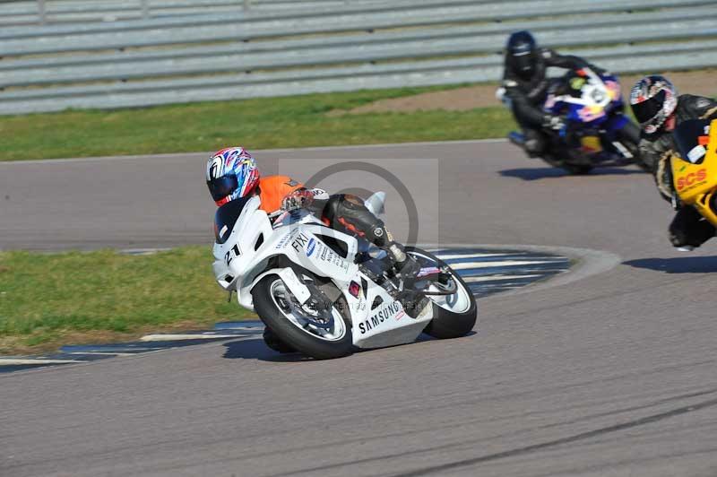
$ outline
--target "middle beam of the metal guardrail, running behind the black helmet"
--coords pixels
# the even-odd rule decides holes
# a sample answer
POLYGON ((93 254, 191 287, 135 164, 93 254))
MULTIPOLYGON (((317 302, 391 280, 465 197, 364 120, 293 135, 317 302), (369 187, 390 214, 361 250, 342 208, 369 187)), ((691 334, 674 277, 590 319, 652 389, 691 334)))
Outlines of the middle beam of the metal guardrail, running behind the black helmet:
MULTIPOLYGON (((705 12, 706 14, 706 12, 705 12)), ((711 17, 683 22, 647 22, 646 26, 624 31, 624 26, 609 28, 585 28, 566 30, 559 33, 546 32, 540 39, 543 44, 552 47, 567 47, 592 43, 592 38, 600 35, 605 42, 644 41, 645 39, 671 38, 698 39, 714 34, 717 12, 711 17)), ((63 67, 45 66, 26 67, 10 71, 0 71, 0 88, 9 86, 31 86, 58 84, 67 82, 126 81, 130 79, 157 78, 160 76, 178 76, 191 74, 232 73, 239 71, 278 70, 288 67, 311 68, 318 65, 338 65, 341 63, 366 63, 387 60, 405 60, 431 58, 436 56, 490 53, 495 51, 505 39, 505 35, 471 36, 460 38, 409 39, 400 42, 386 41, 370 45, 354 44, 341 46, 316 46, 311 50, 279 50, 263 52, 236 52, 220 55, 185 56, 151 61, 139 59, 125 60, 123 63, 104 62, 99 65, 66 65, 63 67)), ((702 50, 699 43, 691 43, 694 50, 702 50)), ((502 61, 502 58, 499 59, 502 61)))

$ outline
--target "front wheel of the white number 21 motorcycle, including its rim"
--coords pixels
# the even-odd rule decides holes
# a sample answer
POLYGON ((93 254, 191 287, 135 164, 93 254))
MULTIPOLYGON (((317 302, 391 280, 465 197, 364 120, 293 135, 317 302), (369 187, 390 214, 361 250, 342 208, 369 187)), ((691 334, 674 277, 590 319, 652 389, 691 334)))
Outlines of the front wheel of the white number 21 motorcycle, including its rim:
POLYGON ((275 274, 267 275, 256 283, 252 297, 256 313, 264 325, 290 348, 316 360, 341 358, 353 352, 350 319, 341 312, 342 308, 348 313, 348 307, 337 306, 338 301, 330 303, 323 296, 312 296, 326 303, 327 308, 329 304, 331 306, 325 310, 325 313, 331 314, 330 318, 322 322, 313 310, 298 304, 281 277, 275 274))

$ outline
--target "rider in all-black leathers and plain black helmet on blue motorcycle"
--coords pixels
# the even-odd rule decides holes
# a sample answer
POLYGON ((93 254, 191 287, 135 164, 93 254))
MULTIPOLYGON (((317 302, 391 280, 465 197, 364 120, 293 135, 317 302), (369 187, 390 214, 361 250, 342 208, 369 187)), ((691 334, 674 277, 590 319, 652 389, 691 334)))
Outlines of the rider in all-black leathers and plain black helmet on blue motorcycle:
POLYGON ((549 66, 578 70, 585 66, 601 72, 583 58, 558 55, 549 48, 539 48, 529 31, 517 31, 505 46, 505 72, 503 88, 510 100, 515 121, 523 129, 525 151, 531 157, 545 152, 547 137, 544 129, 560 130, 565 127, 562 117, 543 110, 550 85, 546 77, 549 66))

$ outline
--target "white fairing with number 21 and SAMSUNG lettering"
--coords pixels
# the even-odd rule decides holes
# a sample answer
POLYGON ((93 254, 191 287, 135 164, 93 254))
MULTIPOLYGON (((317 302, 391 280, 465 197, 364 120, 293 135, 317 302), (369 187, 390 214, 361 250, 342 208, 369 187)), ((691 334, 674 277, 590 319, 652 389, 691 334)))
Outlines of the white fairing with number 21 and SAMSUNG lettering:
MULTIPOLYGON (((222 288, 238 292, 242 307, 255 310, 252 290, 268 274, 278 274, 303 305, 311 296, 304 273, 314 273, 341 291, 348 304, 353 343, 359 348, 415 341, 433 318, 430 305, 409 316, 400 300, 361 271, 356 263, 357 238, 326 227, 304 210, 285 214, 272 224, 260 204, 261 199, 252 196, 217 212, 214 274, 222 288)), ((383 196, 371 204, 379 209, 383 196)))

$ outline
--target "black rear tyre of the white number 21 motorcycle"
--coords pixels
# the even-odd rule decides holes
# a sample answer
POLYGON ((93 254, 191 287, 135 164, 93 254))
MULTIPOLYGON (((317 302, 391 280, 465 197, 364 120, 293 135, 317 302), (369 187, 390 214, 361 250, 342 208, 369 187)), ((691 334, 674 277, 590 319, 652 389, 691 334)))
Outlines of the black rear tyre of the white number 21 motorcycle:
MULTIPOLYGON (((431 262, 436 264, 436 266, 450 267, 450 265, 447 265, 437 256, 425 250, 421 250, 420 248, 406 247, 406 253, 418 258, 421 263, 425 263, 425 260, 421 260, 421 257, 428 257, 431 262)), ((428 299, 431 299, 431 304, 433 306, 433 319, 428 323, 428 326, 426 326, 423 330, 423 333, 429 334, 439 340, 460 338, 461 336, 469 334, 472 331, 473 326, 476 325, 476 320, 478 319, 478 306, 476 305, 476 300, 471 293, 471 289, 463 281, 461 276, 454 271, 454 269, 451 269, 451 273, 453 274, 454 281, 458 283, 459 289, 468 293, 470 303, 467 309, 455 312, 439 306, 436 304, 434 299, 431 299, 430 295, 428 296, 428 299)))

